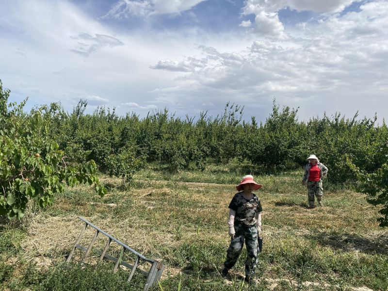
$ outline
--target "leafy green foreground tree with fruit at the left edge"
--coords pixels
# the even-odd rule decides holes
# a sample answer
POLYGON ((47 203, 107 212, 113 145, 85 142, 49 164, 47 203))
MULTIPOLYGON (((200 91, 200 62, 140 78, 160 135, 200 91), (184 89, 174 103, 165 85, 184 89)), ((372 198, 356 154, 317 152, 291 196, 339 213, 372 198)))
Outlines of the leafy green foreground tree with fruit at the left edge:
POLYGON ((65 185, 93 184, 97 194, 105 194, 93 160, 66 164, 64 151, 51 137, 47 107, 26 114, 26 100, 8 103, 9 93, 0 81, 0 215, 21 219, 29 199, 49 206, 65 185))

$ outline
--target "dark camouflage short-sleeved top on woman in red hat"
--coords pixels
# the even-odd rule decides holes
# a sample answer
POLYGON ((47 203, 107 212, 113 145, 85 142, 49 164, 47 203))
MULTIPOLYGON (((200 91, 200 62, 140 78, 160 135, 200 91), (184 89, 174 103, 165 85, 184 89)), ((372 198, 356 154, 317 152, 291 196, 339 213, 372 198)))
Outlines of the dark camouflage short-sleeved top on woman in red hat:
POLYGON ((245 226, 256 225, 256 213, 263 211, 258 196, 253 194, 253 198, 248 200, 244 198, 242 192, 233 196, 229 208, 236 211, 234 221, 239 221, 245 226))

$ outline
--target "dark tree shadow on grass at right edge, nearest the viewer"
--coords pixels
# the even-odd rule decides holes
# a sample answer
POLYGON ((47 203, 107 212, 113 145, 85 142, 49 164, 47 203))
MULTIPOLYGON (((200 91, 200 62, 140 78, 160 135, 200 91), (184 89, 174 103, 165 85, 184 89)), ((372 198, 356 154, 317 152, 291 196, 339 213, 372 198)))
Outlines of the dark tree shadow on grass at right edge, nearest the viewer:
POLYGON ((388 233, 374 237, 362 237, 349 233, 319 233, 308 235, 319 244, 342 251, 361 251, 367 254, 388 255, 388 233))

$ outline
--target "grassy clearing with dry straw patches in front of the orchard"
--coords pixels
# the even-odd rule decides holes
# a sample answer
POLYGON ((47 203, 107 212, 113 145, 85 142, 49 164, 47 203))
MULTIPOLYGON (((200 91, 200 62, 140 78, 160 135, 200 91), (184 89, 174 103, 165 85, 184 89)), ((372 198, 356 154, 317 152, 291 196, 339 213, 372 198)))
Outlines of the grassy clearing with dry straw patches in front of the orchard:
MULTIPOLYGON (((93 256, 90 266, 77 264, 79 252, 74 264, 63 264, 81 230, 77 216, 161 260, 162 288, 154 291, 178 290, 179 281, 181 290, 388 290, 388 231, 378 227, 377 209, 362 194, 327 183, 324 206, 307 209, 302 171, 255 177, 264 210, 257 286, 242 286, 245 251, 222 278, 227 206, 246 173, 236 165, 174 175, 150 167, 129 190, 101 176, 109 189, 103 198, 87 187, 68 189, 53 207, 0 224, 0 290, 142 290, 142 275, 129 285, 128 270, 113 275, 111 262, 95 270, 93 256)), ((81 244, 87 247, 93 234, 87 231, 81 244)), ((96 247, 104 243, 98 237, 96 247)), ((118 252, 112 244, 109 253, 118 252)))

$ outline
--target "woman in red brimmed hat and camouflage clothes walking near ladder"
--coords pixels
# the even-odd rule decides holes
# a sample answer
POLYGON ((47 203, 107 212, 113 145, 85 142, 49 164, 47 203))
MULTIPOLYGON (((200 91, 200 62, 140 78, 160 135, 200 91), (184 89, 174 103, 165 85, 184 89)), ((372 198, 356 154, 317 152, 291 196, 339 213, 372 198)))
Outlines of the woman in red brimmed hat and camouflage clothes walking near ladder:
POLYGON ((229 269, 235 265, 245 241, 247 253, 245 281, 249 284, 254 284, 253 276, 258 258, 258 237, 261 239, 262 211, 259 197, 252 191, 259 190, 261 186, 253 180, 253 176, 244 176, 240 184, 236 186, 239 192, 233 196, 229 204, 228 234, 231 240, 222 275, 226 276, 229 269))

